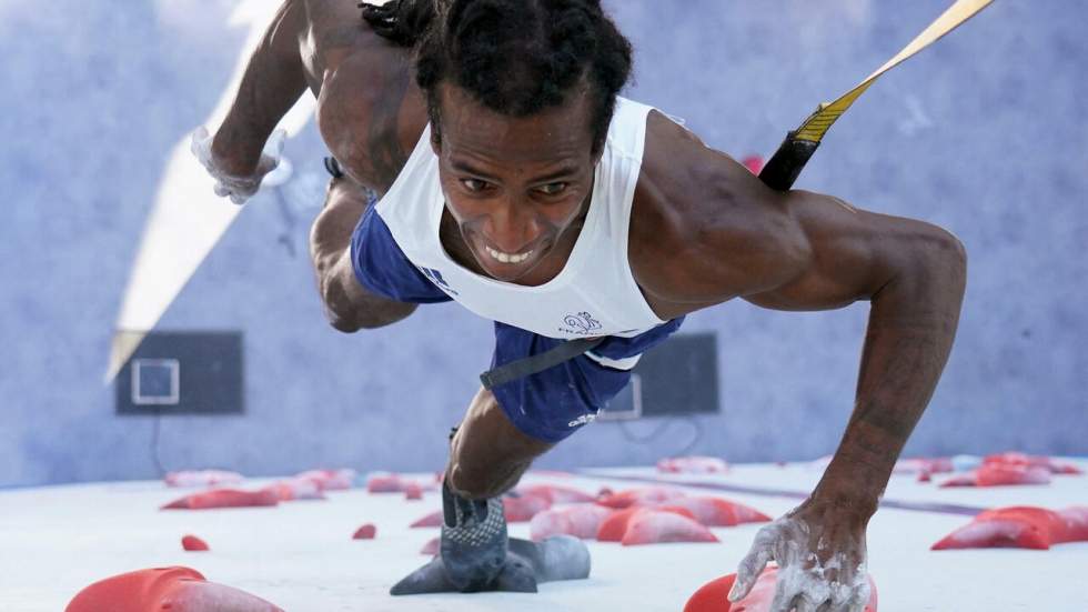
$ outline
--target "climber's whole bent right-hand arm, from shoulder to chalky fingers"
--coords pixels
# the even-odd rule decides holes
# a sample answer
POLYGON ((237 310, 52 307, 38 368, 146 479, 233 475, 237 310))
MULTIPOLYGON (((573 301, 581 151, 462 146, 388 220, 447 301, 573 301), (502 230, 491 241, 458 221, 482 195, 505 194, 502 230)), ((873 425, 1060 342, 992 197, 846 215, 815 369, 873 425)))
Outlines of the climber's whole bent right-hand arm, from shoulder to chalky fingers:
POLYGON ((727 155, 651 117, 632 220, 632 269, 673 318, 733 298, 778 310, 872 303, 855 409, 824 478, 759 531, 735 598, 775 560, 773 612, 862 610, 865 530, 951 348, 966 255, 921 221, 806 191, 773 191, 727 155))

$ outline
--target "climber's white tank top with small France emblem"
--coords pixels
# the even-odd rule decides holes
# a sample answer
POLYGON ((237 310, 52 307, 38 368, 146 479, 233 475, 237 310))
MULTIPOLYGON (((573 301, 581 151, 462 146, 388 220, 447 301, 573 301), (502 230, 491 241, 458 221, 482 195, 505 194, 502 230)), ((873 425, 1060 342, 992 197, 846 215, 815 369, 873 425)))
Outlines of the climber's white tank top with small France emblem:
POLYGON ((476 314, 548 338, 636 335, 663 323, 646 303, 627 261, 631 202, 642 168, 651 107, 617 98, 597 163, 585 223, 563 270, 540 287, 480 275, 459 264, 439 239, 445 197, 431 127, 377 214, 404 255, 440 289, 476 314))

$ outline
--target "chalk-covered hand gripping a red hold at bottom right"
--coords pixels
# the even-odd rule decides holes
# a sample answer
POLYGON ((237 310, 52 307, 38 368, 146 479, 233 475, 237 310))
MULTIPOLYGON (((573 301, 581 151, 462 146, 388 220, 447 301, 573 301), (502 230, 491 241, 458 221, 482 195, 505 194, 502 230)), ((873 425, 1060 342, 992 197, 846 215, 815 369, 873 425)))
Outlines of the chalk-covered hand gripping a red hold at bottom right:
POLYGON ((768 561, 778 563, 769 612, 862 612, 869 601, 865 569, 868 516, 812 499, 756 533, 741 561, 729 601, 743 599, 768 561))

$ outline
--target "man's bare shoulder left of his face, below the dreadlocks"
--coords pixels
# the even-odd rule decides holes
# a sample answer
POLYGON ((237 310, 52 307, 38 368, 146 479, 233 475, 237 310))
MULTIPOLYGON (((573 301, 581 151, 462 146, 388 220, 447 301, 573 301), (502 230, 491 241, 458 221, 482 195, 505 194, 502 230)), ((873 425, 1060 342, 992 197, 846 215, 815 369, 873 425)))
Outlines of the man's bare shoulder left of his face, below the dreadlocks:
POLYGON ((426 124, 411 50, 374 33, 354 2, 308 0, 308 11, 302 47, 321 134, 355 180, 384 192, 426 124))

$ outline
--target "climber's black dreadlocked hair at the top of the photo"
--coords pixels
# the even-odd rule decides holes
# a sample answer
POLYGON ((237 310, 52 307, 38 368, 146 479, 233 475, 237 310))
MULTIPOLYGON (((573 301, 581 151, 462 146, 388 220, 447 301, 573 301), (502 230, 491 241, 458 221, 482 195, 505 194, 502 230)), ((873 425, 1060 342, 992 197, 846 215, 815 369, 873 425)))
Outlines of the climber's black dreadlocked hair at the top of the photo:
POLYGON ((604 146, 616 94, 631 76, 631 43, 601 0, 391 0, 363 2, 379 36, 415 51, 415 79, 441 141, 439 86, 527 117, 562 106, 582 83, 593 100, 593 152, 604 146))

